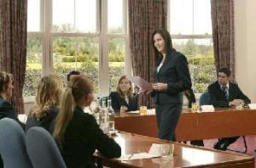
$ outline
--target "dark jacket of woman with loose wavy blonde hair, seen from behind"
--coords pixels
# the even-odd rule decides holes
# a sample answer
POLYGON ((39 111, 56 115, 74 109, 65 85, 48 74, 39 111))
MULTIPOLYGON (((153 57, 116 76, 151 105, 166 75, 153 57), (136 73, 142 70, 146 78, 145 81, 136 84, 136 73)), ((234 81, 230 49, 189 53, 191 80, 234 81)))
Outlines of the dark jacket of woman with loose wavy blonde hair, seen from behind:
POLYGON ((38 119, 35 116, 29 115, 26 120, 26 131, 32 126, 42 126, 49 131, 51 123, 55 120, 59 109, 56 106, 52 106, 49 110, 44 112, 44 115, 38 119))

